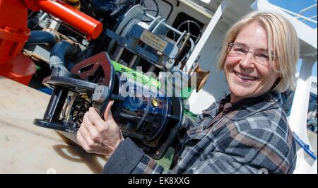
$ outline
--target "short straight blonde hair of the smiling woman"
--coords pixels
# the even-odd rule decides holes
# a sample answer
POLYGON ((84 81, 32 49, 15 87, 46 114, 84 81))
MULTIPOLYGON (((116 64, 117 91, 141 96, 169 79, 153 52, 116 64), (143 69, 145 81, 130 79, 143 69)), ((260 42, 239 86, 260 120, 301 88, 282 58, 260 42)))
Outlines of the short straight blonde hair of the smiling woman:
POLYGON ((293 25, 277 13, 254 11, 232 25, 232 28, 225 34, 218 60, 218 69, 224 69, 228 56, 228 44, 235 41, 237 35, 245 26, 254 22, 257 22, 266 30, 269 40, 269 54, 273 52, 273 54, 278 55, 278 60, 274 61, 273 64, 273 71, 280 74, 281 78, 278 78, 272 90, 280 93, 285 90, 294 90, 296 64, 300 53, 298 36, 293 25))

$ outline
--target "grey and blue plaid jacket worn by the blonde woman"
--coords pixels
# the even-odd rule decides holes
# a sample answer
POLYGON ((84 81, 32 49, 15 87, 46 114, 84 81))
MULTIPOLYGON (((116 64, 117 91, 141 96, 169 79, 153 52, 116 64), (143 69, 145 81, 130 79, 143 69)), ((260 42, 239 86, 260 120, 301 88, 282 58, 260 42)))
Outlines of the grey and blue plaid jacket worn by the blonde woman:
POLYGON ((198 122, 182 127, 185 134, 179 139, 170 170, 165 171, 131 139, 125 139, 103 172, 292 173, 295 141, 281 107, 281 95, 272 92, 249 98, 224 113, 220 107, 226 101, 214 102, 198 122), (224 114, 213 121, 220 111, 224 114))

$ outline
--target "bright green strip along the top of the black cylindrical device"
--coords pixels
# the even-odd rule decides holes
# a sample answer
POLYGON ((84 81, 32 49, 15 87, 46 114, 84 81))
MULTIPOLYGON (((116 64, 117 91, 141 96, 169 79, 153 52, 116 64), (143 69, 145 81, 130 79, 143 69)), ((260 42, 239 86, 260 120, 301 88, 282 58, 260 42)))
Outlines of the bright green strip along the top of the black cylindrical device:
POLYGON ((150 88, 159 89, 160 88, 160 82, 146 76, 145 74, 141 74, 137 71, 134 71, 133 69, 130 69, 122 64, 117 63, 116 61, 112 61, 112 65, 114 66, 114 71, 126 73, 126 76, 134 79, 138 83, 141 83, 142 85, 148 86, 150 88))

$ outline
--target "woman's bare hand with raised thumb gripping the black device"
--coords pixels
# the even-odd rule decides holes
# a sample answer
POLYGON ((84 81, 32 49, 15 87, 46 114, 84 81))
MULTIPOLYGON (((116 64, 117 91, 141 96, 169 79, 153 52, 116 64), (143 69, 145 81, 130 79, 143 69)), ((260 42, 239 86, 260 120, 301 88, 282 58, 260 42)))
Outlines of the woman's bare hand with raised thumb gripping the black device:
POLYGON ((77 141, 88 153, 110 156, 119 143, 124 140, 110 108, 114 101, 108 103, 104 113, 105 121, 93 107, 83 117, 83 123, 77 131, 77 141))

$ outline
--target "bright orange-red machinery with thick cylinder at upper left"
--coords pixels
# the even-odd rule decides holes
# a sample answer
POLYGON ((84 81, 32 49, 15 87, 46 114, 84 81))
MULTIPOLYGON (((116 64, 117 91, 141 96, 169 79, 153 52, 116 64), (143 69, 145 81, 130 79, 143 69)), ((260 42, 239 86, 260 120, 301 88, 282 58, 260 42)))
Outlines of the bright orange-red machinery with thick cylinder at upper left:
POLYGON ((21 53, 30 36, 28 8, 60 18, 84 33, 88 40, 102 32, 102 23, 62 1, 0 0, 0 75, 25 85, 36 71, 34 62, 21 53))

